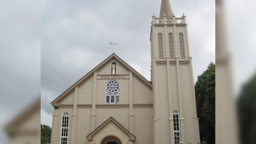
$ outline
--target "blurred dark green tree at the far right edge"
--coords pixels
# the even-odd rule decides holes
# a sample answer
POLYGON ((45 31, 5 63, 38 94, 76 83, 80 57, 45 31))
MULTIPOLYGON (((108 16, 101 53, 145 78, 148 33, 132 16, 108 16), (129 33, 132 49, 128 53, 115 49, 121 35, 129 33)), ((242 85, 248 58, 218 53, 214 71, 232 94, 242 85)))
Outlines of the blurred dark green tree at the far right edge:
POLYGON ((241 142, 256 144, 256 74, 243 85, 237 109, 241 142))

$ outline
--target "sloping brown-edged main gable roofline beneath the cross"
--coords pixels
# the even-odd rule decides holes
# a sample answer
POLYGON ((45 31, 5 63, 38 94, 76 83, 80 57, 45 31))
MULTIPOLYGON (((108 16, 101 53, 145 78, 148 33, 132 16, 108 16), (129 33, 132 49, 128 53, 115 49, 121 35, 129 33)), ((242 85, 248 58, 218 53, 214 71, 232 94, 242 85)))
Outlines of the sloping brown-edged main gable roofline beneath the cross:
POLYGON ((90 77, 95 71, 97 71, 100 67, 107 64, 112 58, 115 58, 118 60, 121 64, 123 64, 128 70, 132 71, 133 74, 135 74, 138 78, 140 78, 145 84, 147 84, 152 89, 152 83, 150 83, 145 77, 143 77, 139 72, 134 70, 131 66, 129 66, 126 62, 124 62, 120 57, 118 57, 115 53, 111 54, 108 58, 103 60, 100 64, 98 64, 96 67, 94 67, 91 71, 89 71, 85 76, 83 76, 81 79, 79 79, 75 84, 73 84, 69 89, 64 91, 62 94, 60 94, 55 100, 51 102, 51 104, 55 104, 60 99, 62 99, 66 94, 68 94, 70 91, 75 89, 79 84, 81 84, 85 79, 90 77))

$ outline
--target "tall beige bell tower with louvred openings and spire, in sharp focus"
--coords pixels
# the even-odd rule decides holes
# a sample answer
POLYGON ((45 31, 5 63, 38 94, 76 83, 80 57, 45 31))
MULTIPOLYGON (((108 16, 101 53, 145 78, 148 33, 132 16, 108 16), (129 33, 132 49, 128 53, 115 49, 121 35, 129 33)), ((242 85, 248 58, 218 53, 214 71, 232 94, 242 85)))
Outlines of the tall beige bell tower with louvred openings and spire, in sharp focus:
POLYGON ((152 17, 150 41, 154 144, 200 143, 186 17, 169 0, 152 17))

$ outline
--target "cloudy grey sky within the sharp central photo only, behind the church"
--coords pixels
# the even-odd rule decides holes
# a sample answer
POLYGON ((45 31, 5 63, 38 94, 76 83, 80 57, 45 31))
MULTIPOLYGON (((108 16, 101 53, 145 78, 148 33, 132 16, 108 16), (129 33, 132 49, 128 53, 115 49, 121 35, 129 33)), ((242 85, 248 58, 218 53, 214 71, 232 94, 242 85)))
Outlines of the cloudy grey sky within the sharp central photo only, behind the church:
MULTIPOLYGON (((150 31, 161 0, 41 1, 41 123, 52 124, 50 102, 113 53, 150 79, 150 31)), ((215 1, 172 0, 187 17, 194 80, 215 63, 215 1)))

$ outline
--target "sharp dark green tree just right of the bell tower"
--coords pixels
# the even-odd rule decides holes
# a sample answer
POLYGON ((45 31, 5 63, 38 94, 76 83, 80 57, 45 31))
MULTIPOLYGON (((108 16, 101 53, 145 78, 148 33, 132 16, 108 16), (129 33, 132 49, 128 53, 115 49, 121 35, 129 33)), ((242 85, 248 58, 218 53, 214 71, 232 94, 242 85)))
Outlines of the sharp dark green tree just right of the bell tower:
POLYGON ((197 77, 195 84, 201 143, 215 144, 215 64, 197 77))

